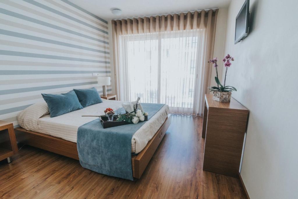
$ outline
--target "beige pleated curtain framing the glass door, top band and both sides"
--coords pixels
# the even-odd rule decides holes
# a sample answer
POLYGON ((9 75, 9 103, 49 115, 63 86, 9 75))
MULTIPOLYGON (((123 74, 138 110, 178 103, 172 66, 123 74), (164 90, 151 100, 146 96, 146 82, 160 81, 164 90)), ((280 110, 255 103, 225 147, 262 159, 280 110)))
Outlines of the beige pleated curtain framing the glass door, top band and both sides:
MULTIPOLYGON (((114 52, 114 70, 115 70, 115 83, 116 83, 116 92, 120 100, 128 100, 125 98, 123 93, 119 91, 121 79, 121 68, 120 66, 120 57, 124 56, 120 48, 121 39, 120 36, 125 35, 140 35, 146 33, 155 33, 162 36, 165 33, 170 33, 173 31, 189 31, 189 30, 204 30, 201 45, 203 49, 203 58, 200 62, 197 63, 197 67, 202 67, 200 78, 200 94, 196 95, 195 99, 199 101, 199 105, 193 113, 200 115, 202 113, 202 104, 204 104, 204 94, 209 93, 207 87, 210 85, 211 79, 211 70, 212 67, 207 61, 213 57, 214 49, 214 40, 215 40, 215 27, 217 19, 217 10, 202 10, 195 11, 194 13, 181 13, 173 15, 162 15, 162 16, 151 16, 144 18, 132 18, 132 19, 121 19, 121 20, 112 20, 112 36, 113 36, 113 52, 114 52)), ((200 49, 201 50, 201 49, 200 49)), ((191 114, 193 114, 191 113, 191 114)))

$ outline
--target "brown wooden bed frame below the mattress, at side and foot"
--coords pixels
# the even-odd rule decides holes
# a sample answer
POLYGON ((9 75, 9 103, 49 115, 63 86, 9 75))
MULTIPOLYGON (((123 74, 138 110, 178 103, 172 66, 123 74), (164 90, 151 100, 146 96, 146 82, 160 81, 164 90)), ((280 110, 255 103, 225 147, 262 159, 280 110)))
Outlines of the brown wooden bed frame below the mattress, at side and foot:
MULTIPOLYGON (((170 126, 170 123, 171 115, 169 114, 162 126, 158 129, 145 148, 137 155, 131 156, 132 172, 134 178, 141 177, 159 143, 162 141, 162 138, 170 126)), ((75 142, 63 140, 62 138, 57 138, 39 132, 29 131, 21 127, 15 128, 15 135, 17 141, 23 144, 79 160, 77 153, 77 143, 75 142)))

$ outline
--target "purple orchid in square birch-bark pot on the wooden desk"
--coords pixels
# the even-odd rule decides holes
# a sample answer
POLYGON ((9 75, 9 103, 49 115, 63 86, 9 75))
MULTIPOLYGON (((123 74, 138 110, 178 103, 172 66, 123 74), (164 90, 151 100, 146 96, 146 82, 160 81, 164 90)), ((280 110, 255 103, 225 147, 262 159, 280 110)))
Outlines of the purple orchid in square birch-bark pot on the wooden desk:
MULTIPOLYGON (((224 85, 221 84, 221 82, 218 79, 218 72, 217 72, 217 57, 210 59, 208 63, 212 63, 213 66, 215 67, 216 70, 216 77, 215 77, 215 82, 217 84, 217 87, 208 87, 210 91, 213 91, 213 100, 219 101, 219 102, 229 102, 231 101, 231 95, 232 91, 237 91, 235 87, 232 86, 226 86, 226 74, 224 78, 224 85)), ((231 55, 226 55, 225 58, 223 59, 224 66, 226 67, 226 73, 228 71, 228 67, 232 65, 231 61, 234 61, 234 58, 231 57, 231 55)))

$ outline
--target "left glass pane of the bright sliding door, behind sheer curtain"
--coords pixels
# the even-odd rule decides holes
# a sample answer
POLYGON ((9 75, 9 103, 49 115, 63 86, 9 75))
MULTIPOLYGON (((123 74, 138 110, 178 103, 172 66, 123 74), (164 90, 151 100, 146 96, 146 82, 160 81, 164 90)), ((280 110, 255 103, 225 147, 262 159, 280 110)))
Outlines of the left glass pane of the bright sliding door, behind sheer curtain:
POLYGON ((142 37, 135 39, 125 42, 129 101, 139 96, 141 102, 159 103, 159 41, 142 37))

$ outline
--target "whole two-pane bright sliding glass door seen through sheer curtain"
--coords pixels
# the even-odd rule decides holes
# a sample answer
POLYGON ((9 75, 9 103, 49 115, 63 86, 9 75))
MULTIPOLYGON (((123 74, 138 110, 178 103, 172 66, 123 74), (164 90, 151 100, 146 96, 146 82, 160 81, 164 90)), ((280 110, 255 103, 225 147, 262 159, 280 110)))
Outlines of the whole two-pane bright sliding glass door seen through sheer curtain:
POLYGON ((200 36, 204 30, 120 36, 128 101, 168 104, 193 114, 200 36))

